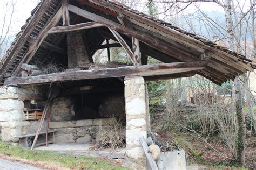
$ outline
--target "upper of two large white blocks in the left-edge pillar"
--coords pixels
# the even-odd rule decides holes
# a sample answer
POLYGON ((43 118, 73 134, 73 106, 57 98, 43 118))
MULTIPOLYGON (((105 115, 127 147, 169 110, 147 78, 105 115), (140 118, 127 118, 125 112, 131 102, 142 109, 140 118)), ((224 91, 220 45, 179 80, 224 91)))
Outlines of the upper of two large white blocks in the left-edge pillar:
POLYGON ((18 110, 21 111, 24 108, 23 101, 15 99, 0 100, 0 110, 18 110))

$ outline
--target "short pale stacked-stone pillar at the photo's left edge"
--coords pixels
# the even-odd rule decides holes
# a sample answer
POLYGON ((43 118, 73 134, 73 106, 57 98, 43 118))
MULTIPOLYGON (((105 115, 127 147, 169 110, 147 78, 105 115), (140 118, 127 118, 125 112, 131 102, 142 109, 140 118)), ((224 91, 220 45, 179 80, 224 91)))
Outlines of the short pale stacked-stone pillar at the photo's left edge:
POLYGON ((25 119, 23 101, 18 99, 17 87, 0 87, 0 123, 2 126, 2 140, 17 143, 14 138, 22 134, 22 127, 29 123, 25 119))

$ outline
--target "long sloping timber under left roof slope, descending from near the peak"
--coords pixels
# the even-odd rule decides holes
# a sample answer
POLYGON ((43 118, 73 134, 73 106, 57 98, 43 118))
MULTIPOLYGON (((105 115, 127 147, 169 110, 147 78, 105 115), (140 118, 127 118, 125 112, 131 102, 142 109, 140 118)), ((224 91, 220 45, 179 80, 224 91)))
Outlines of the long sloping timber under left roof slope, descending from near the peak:
POLYGON ((28 63, 32 56, 37 52, 37 49, 42 44, 43 40, 48 36, 48 31, 52 26, 55 26, 60 18, 62 18, 62 9, 59 9, 58 12, 55 14, 55 16, 51 19, 51 21, 48 23, 47 26, 44 27, 44 29, 41 31, 41 33, 38 35, 37 39, 33 44, 30 45, 29 51, 26 53, 25 56, 23 56, 22 60, 19 62, 19 65, 15 69, 15 72, 12 74, 12 76, 17 76, 21 72, 21 65, 23 63, 28 63))

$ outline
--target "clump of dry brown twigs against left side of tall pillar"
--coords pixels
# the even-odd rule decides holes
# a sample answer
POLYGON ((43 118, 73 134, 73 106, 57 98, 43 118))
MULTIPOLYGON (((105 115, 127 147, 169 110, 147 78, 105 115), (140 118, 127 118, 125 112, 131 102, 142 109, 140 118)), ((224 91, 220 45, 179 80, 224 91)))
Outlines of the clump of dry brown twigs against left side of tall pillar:
POLYGON ((109 118, 109 127, 100 128, 97 136, 100 140, 97 141, 96 150, 111 148, 113 151, 125 147, 125 127, 114 116, 109 118))

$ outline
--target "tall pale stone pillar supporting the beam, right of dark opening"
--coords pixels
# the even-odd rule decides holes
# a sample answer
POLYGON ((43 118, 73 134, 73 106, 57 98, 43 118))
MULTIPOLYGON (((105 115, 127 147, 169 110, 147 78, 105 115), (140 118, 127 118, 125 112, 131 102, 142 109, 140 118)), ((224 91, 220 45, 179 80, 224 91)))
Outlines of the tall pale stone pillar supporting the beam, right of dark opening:
POLYGON ((146 84, 141 76, 125 77, 126 153, 125 161, 130 168, 146 169, 146 155, 139 137, 147 136, 149 118, 146 84))

